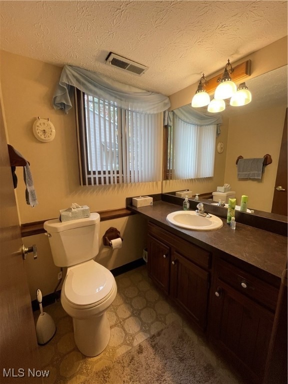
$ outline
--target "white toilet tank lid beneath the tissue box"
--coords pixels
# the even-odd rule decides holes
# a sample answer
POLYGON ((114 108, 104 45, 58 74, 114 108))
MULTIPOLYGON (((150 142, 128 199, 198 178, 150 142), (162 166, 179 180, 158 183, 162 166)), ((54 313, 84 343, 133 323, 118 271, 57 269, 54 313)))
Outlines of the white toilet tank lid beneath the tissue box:
POLYGON ((90 214, 90 217, 78 218, 77 220, 69 220, 61 222, 58 218, 47 220, 43 227, 48 232, 62 232, 63 230, 79 228, 81 226, 96 225, 100 222, 100 215, 97 212, 90 214))

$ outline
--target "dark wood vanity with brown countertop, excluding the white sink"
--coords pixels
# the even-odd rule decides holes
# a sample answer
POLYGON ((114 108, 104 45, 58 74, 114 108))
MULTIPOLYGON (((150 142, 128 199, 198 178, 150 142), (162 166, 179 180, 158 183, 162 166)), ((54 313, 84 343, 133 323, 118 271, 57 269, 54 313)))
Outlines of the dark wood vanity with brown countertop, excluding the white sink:
POLYGON ((249 383, 262 383, 287 238, 223 220, 217 230, 176 227, 179 205, 155 201, 135 208, 147 218, 148 275, 249 383))

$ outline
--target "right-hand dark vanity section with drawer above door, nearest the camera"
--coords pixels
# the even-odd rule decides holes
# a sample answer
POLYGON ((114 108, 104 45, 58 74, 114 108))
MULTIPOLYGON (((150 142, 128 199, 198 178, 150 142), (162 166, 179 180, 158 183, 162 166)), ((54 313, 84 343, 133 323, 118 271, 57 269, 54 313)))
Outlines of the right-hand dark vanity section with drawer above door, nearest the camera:
POLYGON ((216 260, 209 318, 215 344, 251 383, 261 383, 278 289, 216 260))

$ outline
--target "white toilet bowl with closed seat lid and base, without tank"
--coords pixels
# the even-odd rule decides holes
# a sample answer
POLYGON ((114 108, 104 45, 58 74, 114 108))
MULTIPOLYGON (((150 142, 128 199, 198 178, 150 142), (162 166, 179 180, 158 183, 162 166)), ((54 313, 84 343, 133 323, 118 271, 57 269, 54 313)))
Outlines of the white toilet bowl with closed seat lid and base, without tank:
POLYGON ((81 353, 96 356, 110 339, 106 310, 117 287, 112 273, 94 260, 68 268, 61 304, 73 319, 74 339, 81 353))

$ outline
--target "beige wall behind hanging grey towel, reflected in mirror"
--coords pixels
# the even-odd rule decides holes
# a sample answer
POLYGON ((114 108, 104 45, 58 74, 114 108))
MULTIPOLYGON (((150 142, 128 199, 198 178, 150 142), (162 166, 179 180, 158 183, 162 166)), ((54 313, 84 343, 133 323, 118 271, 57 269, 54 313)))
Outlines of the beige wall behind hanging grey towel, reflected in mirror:
POLYGON ((259 109, 229 119, 225 182, 235 190, 238 205, 241 195, 246 194, 249 208, 271 211, 286 107, 259 109), (264 167, 260 180, 237 178, 235 162, 239 155, 251 158, 266 153, 271 155, 272 163, 264 167))

